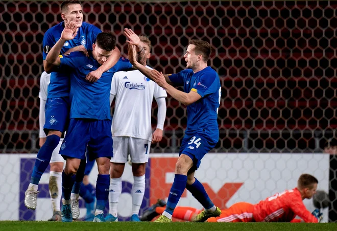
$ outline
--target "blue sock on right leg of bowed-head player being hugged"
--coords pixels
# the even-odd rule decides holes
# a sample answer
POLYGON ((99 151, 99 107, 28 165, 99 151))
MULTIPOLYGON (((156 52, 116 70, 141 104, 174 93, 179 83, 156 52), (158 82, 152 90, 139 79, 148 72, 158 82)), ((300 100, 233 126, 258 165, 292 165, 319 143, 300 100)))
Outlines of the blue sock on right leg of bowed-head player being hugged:
POLYGON ((96 209, 104 211, 109 198, 110 175, 99 174, 96 182, 96 209))

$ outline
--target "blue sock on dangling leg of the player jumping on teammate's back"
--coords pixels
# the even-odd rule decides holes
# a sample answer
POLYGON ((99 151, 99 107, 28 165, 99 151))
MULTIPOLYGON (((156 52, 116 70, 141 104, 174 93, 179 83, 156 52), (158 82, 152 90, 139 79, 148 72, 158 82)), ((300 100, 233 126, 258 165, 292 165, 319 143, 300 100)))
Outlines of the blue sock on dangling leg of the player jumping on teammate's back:
POLYGON ((45 143, 37 153, 33 173, 31 177, 31 183, 39 184, 40 179, 44 171, 47 169, 54 149, 60 142, 60 137, 57 135, 49 135, 46 138, 45 143))

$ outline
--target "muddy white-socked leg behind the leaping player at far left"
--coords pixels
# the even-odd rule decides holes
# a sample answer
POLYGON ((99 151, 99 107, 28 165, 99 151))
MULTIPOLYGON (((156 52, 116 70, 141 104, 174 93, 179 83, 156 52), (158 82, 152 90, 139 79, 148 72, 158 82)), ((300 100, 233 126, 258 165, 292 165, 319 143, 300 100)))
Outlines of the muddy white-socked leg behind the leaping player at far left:
POLYGON ((49 193, 53 206, 53 217, 49 221, 61 221, 60 201, 62 197, 63 162, 50 163, 49 193))

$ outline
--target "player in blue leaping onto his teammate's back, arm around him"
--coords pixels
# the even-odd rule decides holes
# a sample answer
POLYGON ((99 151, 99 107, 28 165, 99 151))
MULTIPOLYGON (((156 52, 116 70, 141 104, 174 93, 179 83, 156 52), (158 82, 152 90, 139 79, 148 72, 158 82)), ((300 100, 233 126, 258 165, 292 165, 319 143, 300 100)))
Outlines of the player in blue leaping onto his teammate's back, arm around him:
MULTIPOLYGON (((66 22, 74 21, 76 24, 77 36, 69 41, 64 42, 60 54, 70 51, 83 51, 91 49, 91 45, 101 30, 97 27, 83 22, 82 6, 77 0, 64 1, 61 4, 61 17, 64 20, 60 24, 47 30, 43 37, 43 66, 47 73, 53 71, 54 65, 47 63, 45 58, 51 48, 61 37, 66 22)), ((88 73, 86 80, 97 81, 102 73, 109 70, 119 59, 121 52, 115 48, 110 58, 97 70, 88 73)), ((42 174, 50 163, 52 153, 57 147, 60 137, 66 130, 69 122, 69 72, 66 68, 61 68, 60 72, 52 72, 50 84, 48 86, 47 100, 45 104, 45 124, 44 132, 46 133, 46 141, 40 148, 31 176, 29 187, 25 193, 25 205, 28 209, 36 209, 36 197, 38 193, 38 184, 42 174)), ((80 185, 85 168, 85 160, 82 161, 80 171, 77 174, 77 185, 80 185)), ((51 164, 51 171, 62 172, 63 163, 56 162, 51 164)), ((78 198, 79 187, 74 189, 74 197, 78 198)), ((74 200, 74 208, 77 211, 74 214, 74 219, 79 216, 78 199, 74 200), (76 206, 77 205, 77 206, 76 206)))

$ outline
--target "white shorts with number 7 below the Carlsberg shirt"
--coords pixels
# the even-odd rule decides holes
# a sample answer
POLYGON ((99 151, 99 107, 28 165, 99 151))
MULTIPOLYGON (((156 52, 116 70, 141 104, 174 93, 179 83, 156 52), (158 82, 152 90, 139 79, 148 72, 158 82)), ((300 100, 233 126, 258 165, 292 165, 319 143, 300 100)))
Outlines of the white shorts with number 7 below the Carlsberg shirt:
POLYGON ((135 164, 147 163, 151 142, 140 138, 129 136, 112 136, 113 139, 113 157, 112 163, 127 163, 128 155, 131 162, 135 164))

